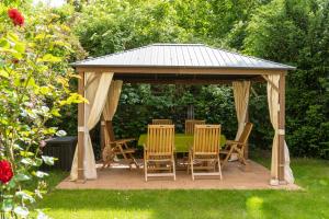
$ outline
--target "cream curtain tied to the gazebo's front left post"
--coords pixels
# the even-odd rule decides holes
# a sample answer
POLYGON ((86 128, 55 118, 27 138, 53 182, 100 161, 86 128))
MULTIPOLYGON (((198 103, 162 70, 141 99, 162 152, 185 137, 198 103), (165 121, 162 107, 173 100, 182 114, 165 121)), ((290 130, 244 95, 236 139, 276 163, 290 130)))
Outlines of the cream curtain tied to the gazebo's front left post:
MULTIPOLYGON (((109 88, 113 78, 113 73, 92 73, 86 72, 86 90, 84 96, 89 101, 89 104, 84 104, 84 159, 83 170, 86 178, 97 178, 97 166, 94 161, 94 154, 92 150, 92 143, 89 136, 91 130, 100 120, 102 111, 104 108, 109 88)), ((81 128, 81 127, 80 127, 81 128)), ((73 163, 71 168, 71 180, 78 178, 78 147, 76 149, 73 163)))

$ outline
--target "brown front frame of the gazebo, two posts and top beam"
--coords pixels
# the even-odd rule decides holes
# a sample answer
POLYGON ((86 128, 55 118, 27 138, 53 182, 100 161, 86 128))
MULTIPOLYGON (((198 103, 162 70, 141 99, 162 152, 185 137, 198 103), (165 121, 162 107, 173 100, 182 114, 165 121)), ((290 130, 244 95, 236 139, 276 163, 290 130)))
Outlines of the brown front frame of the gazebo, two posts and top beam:
MULTIPOLYGON (((173 84, 219 84, 231 83, 232 81, 248 80, 257 82, 272 83, 268 79, 271 74, 280 76, 279 87, 272 87, 279 92, 280 111, 277 115, 279 129, 285 129, 285 77, 288 70, 294 67, 284 66, 282 68, 264 67, 168 67, 168 66, 111 66, 111 65, 79 65, 73 64, 80 79, 78 82, 78 93, 84 95, 84 73, 86 72, 114 72, 115 80, 123 80, 126 83, 173 83, 173 84)), ((84 103, 78 105, 78 126, 84 126, 84 103)), ((84 182, 83 157, 84 157, 84 130, 78 128, 78 180, 84 182)), ((280 183, 284 183, 285 164, 285 134, 279 135, 277 147, 277 175, 280 183)))

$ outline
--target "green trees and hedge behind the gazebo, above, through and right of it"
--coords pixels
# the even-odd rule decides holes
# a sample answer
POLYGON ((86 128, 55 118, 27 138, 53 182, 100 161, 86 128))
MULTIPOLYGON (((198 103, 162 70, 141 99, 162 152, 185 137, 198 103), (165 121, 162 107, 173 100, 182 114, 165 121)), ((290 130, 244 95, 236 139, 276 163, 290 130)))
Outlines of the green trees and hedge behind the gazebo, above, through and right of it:
MULTIPOLYGON (((286 84, 287 143, 294 155, 329 158, 328 0, 104 0, 81 5, 76 32, 92 56, 151 43, 188 42, 296 66, 286 84)), ((253 89, 251 142, 269 148, 273 129, 266 91, 259 84, 253 89)), ((234 136, 237 125, 231 91, 217 87, 126 84, 114 119, 115 131, 137 137, 152 117, 173 118, 181 131, 190 104, 196 117, 222 123, 225 134, 234 136)))

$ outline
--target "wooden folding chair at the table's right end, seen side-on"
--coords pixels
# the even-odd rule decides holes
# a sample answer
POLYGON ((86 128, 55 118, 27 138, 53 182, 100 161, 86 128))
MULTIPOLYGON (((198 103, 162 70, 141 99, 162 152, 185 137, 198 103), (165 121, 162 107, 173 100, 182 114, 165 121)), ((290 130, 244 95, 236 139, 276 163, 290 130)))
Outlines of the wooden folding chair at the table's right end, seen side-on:
POLYGON ((224 160, 222 162, 222 166, 228 162, 228 159, 232 153, 238 154, 238 160, 246 165, 246 159, 245 159, 245 148, 248 142, 249 135, 251 132, 253 124, 247 123, 243 127, 243 131, 240 135, 240 138, 236 140, 227 140, 225 149, 220 151, 220 154, 224 155, 224 160))

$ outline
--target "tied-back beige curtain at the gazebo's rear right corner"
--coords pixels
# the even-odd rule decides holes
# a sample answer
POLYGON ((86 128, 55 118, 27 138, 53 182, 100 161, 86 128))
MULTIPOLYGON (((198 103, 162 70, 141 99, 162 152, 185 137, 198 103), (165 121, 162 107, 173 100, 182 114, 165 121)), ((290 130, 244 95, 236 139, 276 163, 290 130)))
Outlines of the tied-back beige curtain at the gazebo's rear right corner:
POLYGON ((247 118, 250 81, 234 81, 232 90, 235 96, 237 118, 239 124, 238 131, 236 135, 236 140, 238 140, 240 138, 241 132, 243 131, 243 126, 247 118))

